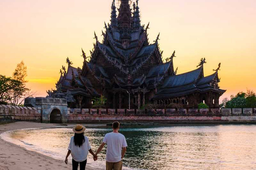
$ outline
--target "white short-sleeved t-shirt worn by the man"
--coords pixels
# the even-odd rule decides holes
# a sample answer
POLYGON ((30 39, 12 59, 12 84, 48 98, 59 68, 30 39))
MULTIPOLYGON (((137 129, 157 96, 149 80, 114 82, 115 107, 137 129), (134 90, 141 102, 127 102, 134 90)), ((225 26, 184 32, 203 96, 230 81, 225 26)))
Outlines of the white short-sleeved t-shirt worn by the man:
POLYGON ((105 135, 103 143, 107 144, 107 162, 119 162, 122 160, 122 148, 127 147, 124 135, 120 133, 110 132, 105 135))

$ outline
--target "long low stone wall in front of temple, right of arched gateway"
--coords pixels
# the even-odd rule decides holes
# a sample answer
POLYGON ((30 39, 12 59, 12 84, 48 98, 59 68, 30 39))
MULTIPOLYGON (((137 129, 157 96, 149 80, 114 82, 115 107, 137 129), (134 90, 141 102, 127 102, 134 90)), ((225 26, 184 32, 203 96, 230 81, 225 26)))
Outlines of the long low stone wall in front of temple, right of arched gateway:
POLYGON ((256 109, 68 109, 68 122, 255 122, 256 109))

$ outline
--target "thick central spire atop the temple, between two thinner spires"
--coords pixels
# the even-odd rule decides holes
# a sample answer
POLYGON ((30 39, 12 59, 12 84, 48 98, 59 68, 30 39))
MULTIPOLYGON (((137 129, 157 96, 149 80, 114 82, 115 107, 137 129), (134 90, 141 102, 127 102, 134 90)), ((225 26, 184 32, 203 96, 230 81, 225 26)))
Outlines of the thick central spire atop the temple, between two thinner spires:
POLYGON ((117 21, 119 24, 119 27, 131 27, 133 18, 131 16, 131 8, 129 5, 130 0, 120 0, 121 4, 118 8, 118 17, 117 21))

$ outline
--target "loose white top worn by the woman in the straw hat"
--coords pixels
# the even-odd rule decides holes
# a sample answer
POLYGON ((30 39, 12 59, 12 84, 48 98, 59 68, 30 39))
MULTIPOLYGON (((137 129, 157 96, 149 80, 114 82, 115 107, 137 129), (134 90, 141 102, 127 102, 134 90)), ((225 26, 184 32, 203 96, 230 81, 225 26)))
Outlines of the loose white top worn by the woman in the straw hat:
POLYGON ((91 149, 88 137, 84 136, 84 139, 85 141, 80 147, 75 145, 74 136, 70 139, 68 150, 71 150, 71 156, 76 162, 85 161, 88 156, 88 150, 91 149))

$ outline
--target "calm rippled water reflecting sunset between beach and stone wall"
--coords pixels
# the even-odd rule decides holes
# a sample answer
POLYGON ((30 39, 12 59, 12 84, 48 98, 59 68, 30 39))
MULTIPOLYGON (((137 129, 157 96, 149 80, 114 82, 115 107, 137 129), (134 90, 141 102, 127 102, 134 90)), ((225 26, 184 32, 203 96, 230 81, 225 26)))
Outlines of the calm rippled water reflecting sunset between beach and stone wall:
MULTIPOLYGON (((96 152, 110 128, 87 128, 96 152)), ((256 125, 165 126, 122 128, 127 143, 123 160, 125 169, 160 170, 230 170, 256 169, 256 125)), ((18 130, 10 133, 14 141, 44 154, 64 159, 70 128, 18 130)), ((104 168, 104 154, 99 161, 88 157, 88 164, 104 168)))

